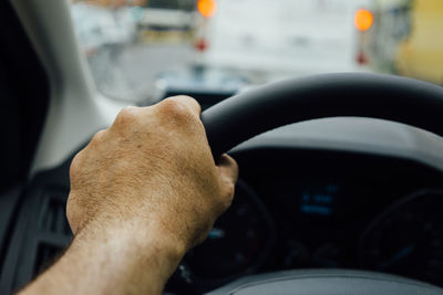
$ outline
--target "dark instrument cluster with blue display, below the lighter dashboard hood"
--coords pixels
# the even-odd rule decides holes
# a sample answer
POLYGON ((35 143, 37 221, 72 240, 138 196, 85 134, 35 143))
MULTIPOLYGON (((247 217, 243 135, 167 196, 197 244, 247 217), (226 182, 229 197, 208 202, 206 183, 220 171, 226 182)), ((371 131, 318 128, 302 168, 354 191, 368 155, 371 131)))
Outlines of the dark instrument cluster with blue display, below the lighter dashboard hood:
POLYGON ((235 201, 174 280, 205 292, 251 273, 357 268, 442 286, 437 170, 392 157, 298 148, 235 157, 241 178, 235 201))

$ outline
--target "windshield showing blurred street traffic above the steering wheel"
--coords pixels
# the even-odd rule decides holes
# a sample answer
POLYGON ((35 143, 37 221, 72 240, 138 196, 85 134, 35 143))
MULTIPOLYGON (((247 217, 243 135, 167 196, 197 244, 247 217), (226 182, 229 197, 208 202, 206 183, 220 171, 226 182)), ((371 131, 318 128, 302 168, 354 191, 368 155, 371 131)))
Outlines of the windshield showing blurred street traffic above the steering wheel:
POLYGON ((442 0, 78 0, 71 11, 95 84, 115 99, 331 72, 443 83, 442 0))

